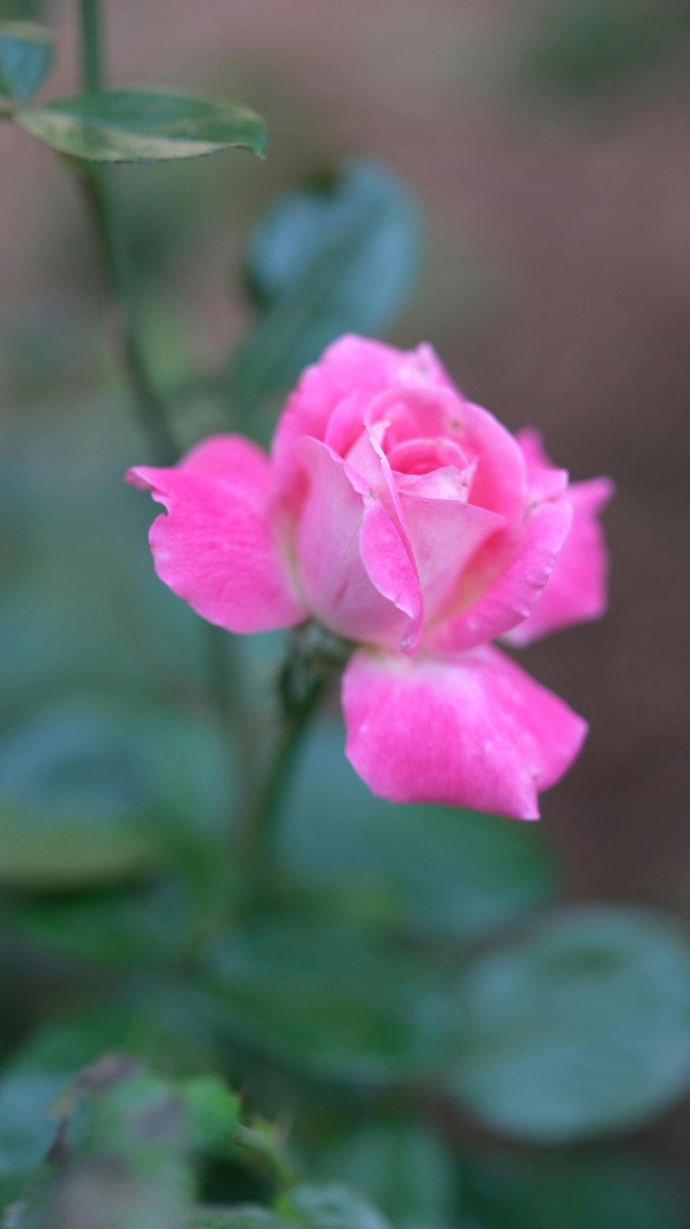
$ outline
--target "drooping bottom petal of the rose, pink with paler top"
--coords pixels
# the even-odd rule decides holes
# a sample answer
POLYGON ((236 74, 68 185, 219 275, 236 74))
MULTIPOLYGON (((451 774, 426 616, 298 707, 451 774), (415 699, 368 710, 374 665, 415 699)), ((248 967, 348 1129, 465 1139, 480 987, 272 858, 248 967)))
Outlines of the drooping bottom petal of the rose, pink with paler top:
POLYGON ((374 794, 539 819, 538 791, 587 723, 497 649, 414 660, 356 653, 343 680, 346 755, 374 794))

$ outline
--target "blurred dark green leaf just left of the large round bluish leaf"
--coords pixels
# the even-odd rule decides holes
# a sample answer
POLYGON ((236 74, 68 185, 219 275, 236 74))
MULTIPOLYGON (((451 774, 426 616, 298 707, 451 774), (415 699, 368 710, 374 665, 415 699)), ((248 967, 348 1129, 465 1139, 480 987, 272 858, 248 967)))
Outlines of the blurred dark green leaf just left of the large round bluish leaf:
POLYGON ((428 960, 322 916, 238 935, 215 952, 210 984, 244 1045, 314 1077, 386 1083, 438 1070, 455 1046, 428 960))

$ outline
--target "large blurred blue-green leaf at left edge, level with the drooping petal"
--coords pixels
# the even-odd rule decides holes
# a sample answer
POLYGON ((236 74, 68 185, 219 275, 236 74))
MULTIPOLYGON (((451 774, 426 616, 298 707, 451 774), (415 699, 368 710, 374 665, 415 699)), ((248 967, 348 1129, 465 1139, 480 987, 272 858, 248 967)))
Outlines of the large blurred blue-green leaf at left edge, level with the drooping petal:
MULTIPOLYGON (((141 703, 65 698, 0 726, 0 879, 45 890, 176 859, 190 874, 204 859, 217 868, 228 758, 207 714, 141 703)), ((79 913, 66 919, 77 943, 79 913)), ((125 924, 114 901, 108 916, 125 924)))

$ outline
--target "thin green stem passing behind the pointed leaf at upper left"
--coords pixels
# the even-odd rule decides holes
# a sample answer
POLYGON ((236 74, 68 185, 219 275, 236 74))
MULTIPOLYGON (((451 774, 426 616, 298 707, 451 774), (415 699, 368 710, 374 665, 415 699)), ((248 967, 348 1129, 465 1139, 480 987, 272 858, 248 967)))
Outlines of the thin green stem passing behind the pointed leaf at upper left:
MULTIPOLYGON (((80 0, 80 11, 81 76, 85 90, 98 92, 106 87, 99 0, 80 0)), ((80 172, 103 254, 108 289, 115 307, 115 343, 122 366, 155 458, 161 465, 172 465, 179 450, 169 429, 165 406, 149 374, 140 342, 136 286, 110 168, 90 162, 80 166, 80 172)))

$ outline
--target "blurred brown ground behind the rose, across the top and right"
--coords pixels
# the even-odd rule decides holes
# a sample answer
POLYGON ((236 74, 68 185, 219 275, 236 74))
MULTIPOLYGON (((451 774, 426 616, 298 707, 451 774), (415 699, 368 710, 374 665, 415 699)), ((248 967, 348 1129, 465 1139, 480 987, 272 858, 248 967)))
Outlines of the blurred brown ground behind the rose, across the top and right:
MULTIPOLYGON (((594 113, 519 100, 510 82, 523 6, 507 0, 109 10, 119 80, 246 97, 274 120, 284 182, 292 149, 300 166, 328 150, 374 152, 406 177, 432 242, 401 339, 432 333, 462 386, 511 426, 541 428, 575 478, 615 478, 608 619, 524 659, 592 723, 581 763, 544 800, 545 822, 577 891, 690 916, 688 74, 659 69, 594 113)), ((65 52, 50 88, 70 75, 65 52)), ((53 157, 9 127, 0 165, 6 323, 60 289, 47 235, 79 204, 53 157)))

